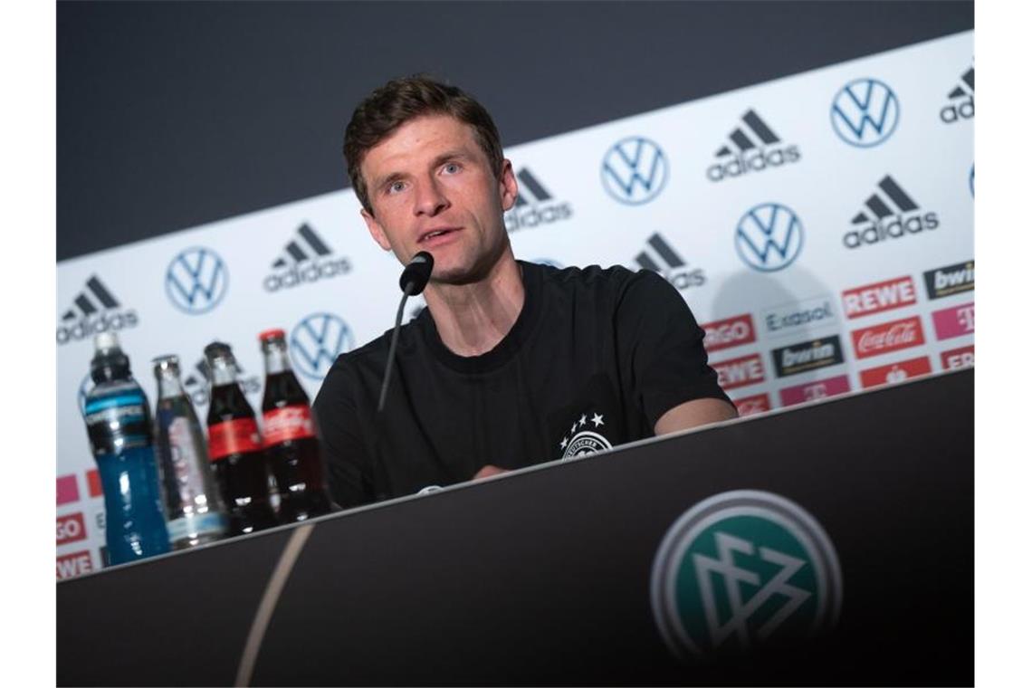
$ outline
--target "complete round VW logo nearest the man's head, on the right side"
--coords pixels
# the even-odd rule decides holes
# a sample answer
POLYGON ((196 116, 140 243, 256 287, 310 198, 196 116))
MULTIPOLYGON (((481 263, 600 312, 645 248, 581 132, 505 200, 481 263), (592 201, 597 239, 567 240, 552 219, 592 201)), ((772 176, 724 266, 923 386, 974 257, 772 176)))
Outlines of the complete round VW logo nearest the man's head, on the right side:
POLYGON ((621 203, 647 203, 667 184, 667 156, 653 141, 631 136, 618 141, 602 160, 602 186, 621 203))

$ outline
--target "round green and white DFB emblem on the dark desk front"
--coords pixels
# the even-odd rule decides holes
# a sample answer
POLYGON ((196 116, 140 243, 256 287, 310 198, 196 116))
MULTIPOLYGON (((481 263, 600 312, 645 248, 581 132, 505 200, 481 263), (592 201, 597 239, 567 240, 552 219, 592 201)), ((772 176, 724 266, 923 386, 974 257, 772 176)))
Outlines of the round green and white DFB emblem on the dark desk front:
POLYGON ((704 499, 670 527, 650 592, 659 633, 685 658, 833 628, 842 574, 828 533, 802 506, 735 490, 704 499))

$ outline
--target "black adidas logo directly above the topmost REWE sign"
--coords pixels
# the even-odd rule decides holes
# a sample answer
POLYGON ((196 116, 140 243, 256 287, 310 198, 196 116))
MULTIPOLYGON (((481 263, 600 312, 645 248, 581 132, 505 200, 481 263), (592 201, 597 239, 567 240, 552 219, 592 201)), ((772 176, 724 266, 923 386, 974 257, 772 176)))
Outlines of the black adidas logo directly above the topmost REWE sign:
POLYGON ((921 215, 914 200, 888 174, 878 182, 875 193, 864 202, 864 208, 853 216, 856 229, 842 237, 847 249, 859 249, 865 243, 877 243, 889 238, 900 238, 931 231, 939 226, 935 212, 921 215), (864 229, 861 229, 861 228, 864 229))

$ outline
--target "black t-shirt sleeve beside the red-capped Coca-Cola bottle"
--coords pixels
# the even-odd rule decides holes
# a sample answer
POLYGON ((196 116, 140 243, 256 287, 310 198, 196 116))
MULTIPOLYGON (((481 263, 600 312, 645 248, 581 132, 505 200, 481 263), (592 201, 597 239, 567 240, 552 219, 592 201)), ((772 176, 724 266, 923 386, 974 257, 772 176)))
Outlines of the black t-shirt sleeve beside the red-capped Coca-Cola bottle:
POLYGON ((322 439, 330 494, 345 509, 374 500, 370 456, 353 391, 348 364, 338 361, 323 381, 312 412, 322 439))

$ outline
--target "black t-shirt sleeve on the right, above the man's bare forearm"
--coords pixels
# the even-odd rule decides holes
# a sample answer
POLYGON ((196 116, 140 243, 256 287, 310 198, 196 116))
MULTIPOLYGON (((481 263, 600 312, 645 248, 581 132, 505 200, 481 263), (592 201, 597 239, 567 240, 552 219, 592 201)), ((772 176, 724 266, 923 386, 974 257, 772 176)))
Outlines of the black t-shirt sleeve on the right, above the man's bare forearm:
POLYGON ((708 363, 706 333, 680 293, 655 272, 641 270, 627 281, 616 333, 623 374, 652 427, 685 401, 731 402, 708 363))

